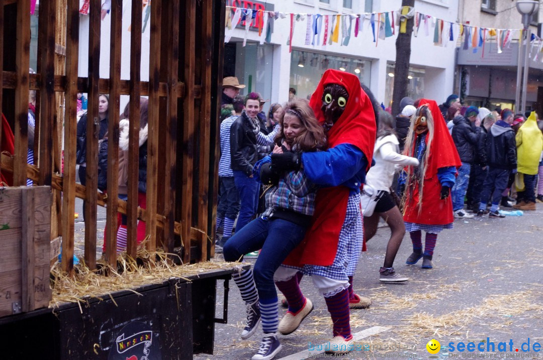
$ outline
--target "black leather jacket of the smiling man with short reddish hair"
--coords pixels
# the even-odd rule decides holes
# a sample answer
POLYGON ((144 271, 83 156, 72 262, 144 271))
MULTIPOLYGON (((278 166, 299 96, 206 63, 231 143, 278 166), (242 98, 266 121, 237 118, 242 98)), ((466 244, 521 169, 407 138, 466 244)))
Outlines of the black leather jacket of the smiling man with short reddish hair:
POLYGON ((230 156, 232 170, 252 175, 252 168, 258 161, 255 126, 243 112, 230 127, 230 156))

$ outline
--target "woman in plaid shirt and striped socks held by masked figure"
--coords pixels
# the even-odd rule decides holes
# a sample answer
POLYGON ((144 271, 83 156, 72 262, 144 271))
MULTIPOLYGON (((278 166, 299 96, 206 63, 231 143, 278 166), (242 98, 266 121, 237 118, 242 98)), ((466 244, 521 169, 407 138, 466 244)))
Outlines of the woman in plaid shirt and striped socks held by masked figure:
MULTIPOLYGON (((326 138, 306 100, 291 100, 279 121, 281 130, 273 153, 324 149, 326 138)), ((256 163, 253 176, 264 185, 266 211, 233 235, 225 244, 226 261, 238 261, 243 254, 262 249, 254 269, 233 275, 247 303, 247 326, 241 337, 254 334, 262 319, 264 337, 253 360, 269 360, 281 350, 277 340, 279 325, 274 273, 287 255, 304 239, 314 213, 317 186, 304 175, 303 169, 276 171, 269 156, 256 163)))

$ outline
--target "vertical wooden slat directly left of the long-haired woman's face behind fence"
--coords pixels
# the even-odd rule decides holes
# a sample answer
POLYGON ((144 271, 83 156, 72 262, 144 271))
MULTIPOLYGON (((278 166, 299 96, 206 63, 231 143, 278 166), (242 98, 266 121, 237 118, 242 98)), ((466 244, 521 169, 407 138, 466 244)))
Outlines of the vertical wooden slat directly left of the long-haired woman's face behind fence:
POLYGON ((96 207, 98 188, 98 133, 100 118, 98 80, 100 77, 100 0, 91 0, 89 23, 89 102, 86 128, 86 202, 85 202, 85 262, 96 268, 96 207))

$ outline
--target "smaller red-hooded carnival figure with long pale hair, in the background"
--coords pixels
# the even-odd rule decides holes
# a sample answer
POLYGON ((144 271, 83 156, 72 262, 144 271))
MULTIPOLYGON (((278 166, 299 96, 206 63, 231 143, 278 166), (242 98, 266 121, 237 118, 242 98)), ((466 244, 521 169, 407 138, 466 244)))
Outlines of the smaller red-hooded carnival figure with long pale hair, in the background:
POLYGON ((423 258, 422 268, 430 269, 438 233, 452 229, 454 219, 449 195, 457 169, 462 165, 434 100, 420 100, 405 144, 405 155, 417 158, 420 163, 405 168, 403 221, 413 242, 413 254, 406 263, 414 265, 423 258), (421 230, 426 232, 424 253, 421 230))

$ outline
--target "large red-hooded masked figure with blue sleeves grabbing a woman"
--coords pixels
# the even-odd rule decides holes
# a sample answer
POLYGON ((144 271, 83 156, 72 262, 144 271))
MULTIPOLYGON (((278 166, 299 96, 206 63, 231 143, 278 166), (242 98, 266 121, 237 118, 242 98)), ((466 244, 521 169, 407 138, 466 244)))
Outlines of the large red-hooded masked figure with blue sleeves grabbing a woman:
POLYGON ((289 153, 271 156, 272 167, 301 168, 321 187, 305 240, 275 273, 276 285, 289 305, 279 332, 287 335, 296 330, 313 308, 296 281, 296 272, 302 271, 312 276, 314 285, 325 297, 334 324, 332 342, 339 349, 352 341, 349 276, 356 269, 362 248, 359 193, 371 166, 375 111, 357 76, 331 69, 323 74, 310 105, 325 128, 329 149, 303 153, 299 158, 289 153))

